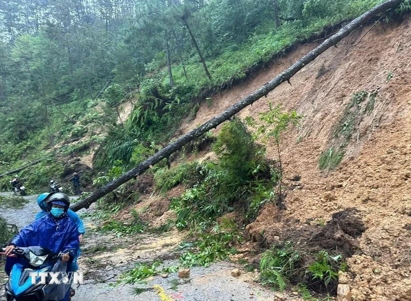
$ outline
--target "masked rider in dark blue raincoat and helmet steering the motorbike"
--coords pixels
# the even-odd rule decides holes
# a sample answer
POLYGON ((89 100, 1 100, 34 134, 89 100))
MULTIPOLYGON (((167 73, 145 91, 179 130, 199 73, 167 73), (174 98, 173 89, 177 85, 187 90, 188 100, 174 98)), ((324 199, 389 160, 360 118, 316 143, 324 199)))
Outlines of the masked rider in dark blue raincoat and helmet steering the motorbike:
MULTIPOLYGON (((63 193, 56 193, 49 198, 48 214, 35 220, 20 230, 6 247, 5 255, 12 254, 16 247, 41 246, 54 253, 62 253, 61 260, 71 263, 77 254, 80 245, 76 224, 67 214, 70 200, 63 193)), ((8 257, 5 270, 8 275, 16 263, 14 258, 8 257), (9 260, 9 258, 11 260, 9 260)), ((67 272, 70 272, 68 265, 67 272)), ((62 301, 68 300, 70 290, 62 301)))

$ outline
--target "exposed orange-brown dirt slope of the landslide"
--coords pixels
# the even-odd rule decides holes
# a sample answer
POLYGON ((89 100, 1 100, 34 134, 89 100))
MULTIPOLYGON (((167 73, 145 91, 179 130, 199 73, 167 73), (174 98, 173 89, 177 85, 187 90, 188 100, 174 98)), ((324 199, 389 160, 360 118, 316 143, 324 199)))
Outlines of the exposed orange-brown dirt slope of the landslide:
MULTIPOLYGON (((411 296, 410 22, 408 16, 396 26, 356 31, 298 72, 291 85, 283 83, 240 113, 256 118, 272 101, 304 115, 301 127, 286 133, 281 145, 285 178, 300 175, 300 189, 288 191, 286 211, 267 205, 248 226, 250 236, 270 245, 285 237, 286 229, 303 229, 343 209, 358 209, 367 229, 358 238, 360 251, 348 260, 349 274, 340 277, 351 285, 355 300, 411 296), (340 166, 322 172, 320 154, 331 146, 352 95, 361 90, 377 91, 373 110, 356 124, 340 166)), ((181 130, 220 113, 315 46, 297 48, 255 78, 214 97, 211 106, 203 103, 195 120, 181 130)), ((276 158, 274 147, 268 147, 268 156, 276 158)))

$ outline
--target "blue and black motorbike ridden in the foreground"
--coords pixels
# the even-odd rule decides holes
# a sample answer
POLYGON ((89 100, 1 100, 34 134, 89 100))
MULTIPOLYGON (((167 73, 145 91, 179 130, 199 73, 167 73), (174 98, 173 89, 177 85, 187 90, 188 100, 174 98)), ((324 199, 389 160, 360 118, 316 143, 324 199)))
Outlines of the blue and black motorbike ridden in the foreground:
MULTIPOLYGON (((5 249, 1 250, 5 252, 5 249)), ((10 272, 6 283, 7 301, 49 301, 64 298, 71 287, 73 276, 70 273, 59 273, 57 279, 60 283, 50 283, 51 272, 63 272, 67 269, 67 263, 60 260, 61 254, 39 246, 16 247, 13 254, 23 260, 15 263, 10 272), (37 274, 32 276, 33 272, 37 274), (49 276, 46 276, 44 284, 40 281, 41 276, 37 275, 45 272, 48 272, 49 276), (33 277, 36 278, 35 284, 32 283, 33 277)))

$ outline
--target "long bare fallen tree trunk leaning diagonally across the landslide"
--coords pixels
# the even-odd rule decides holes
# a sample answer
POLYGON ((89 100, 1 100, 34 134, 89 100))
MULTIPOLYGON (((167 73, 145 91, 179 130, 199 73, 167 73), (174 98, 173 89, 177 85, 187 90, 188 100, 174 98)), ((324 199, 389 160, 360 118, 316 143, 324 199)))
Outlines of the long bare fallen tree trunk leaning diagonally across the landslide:
POLYGON ((205 122, 199 127, 193 129, 192 131, 186 133, 185 135, 182 135, 175 142, 170 143, 169 145, 161 149, 158 153, 156 153, 154 156, 151 156, 146 161, 140 163, 134 169, 128 171, 127 173, 123 174, 121 177, 108 183, 107 185, 101 187, 100 189, 97 189, 91 195, 86 197, 84 200, 71 206, 71 209, 73 211, 77 211, 81 208, 88 208, 93 202, 97 201, 99 198, 112 192, 117 187, 126 183, 127 181, 141 175, 146 170, 148 170, 150 166, 153 166, 156 163, 163 160, 164 158, 167 158, 168 156, 170 156, 171 154, 179 150, 182 146, 184 146, 188 142, 194 140, 195 138, 199 137, 200 135, 209 131, 210 129, 216 128, 219 124, 223 123, 225 120, 234 116, 235 114, 240 112, 242 109, 244 109, 248 105, 254 103, 255 101, 257 101, 264 95, 267 95, 270 91, 272 91, 275 87, 279 86, 281 83, 285 81, 289 82, 289 79, 295 73, 297 73, 299 70, 301 70, 304 66, 306 66, 310 62, 314 61, 320 54, 325 52, 327 49, 336 45, 342 39, 347 37, 352 31, 358 29, 362 24, 370 21, 371 19, 375 18, 378 14, 383 13, 388 9, 397 7, 401 2, 402 0, 386 1, 382 4, 377 5, 376 7, 364 13, 360 17, 354 19, 348 25, 340 29, 335 35, 325 40, 321 45, 319 45, 318 47, 316 47, 315 49, 307 53, 305 56, 300 58, 291 67, 283 71, 281 74, 276 76, 274 79, 266 83, 264 86, 254 91, 252 94, 248 95, 247 97, 241 99, 240 101, 235 103, 233 106, 231 106, 228 110, 224 111, 220 115, 215 116, 214 118, 210 119, 209 121, 205 122))

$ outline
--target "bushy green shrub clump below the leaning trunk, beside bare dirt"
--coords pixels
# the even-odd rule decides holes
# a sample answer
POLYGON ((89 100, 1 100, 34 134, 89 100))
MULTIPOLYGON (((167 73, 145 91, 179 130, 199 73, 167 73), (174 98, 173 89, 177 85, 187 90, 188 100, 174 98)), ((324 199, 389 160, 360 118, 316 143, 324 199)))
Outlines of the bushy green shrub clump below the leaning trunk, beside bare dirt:
MULTIPOLYGON (((218 163, 204 162, 191 167, 195 180, 202 181, 173 199, 171 209, 177 213, 179 229, 205 229, 216 217, 240 208, 250 219, 255 217, 273 187, 270 167, 265 162, 265 152, 257 145, 243 122, 235 118, 223 125, 213 145, 219 156, 218 163), (251 207, 250 207, 250 204, 251 207)), ((187 165, 177 170, 184 170, 187 165)), ((181 181, 179 173, 169 183, 181 181)))

